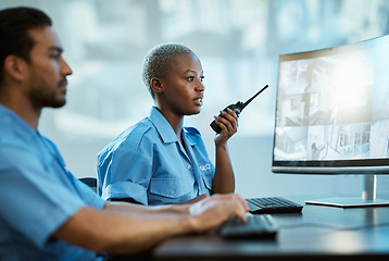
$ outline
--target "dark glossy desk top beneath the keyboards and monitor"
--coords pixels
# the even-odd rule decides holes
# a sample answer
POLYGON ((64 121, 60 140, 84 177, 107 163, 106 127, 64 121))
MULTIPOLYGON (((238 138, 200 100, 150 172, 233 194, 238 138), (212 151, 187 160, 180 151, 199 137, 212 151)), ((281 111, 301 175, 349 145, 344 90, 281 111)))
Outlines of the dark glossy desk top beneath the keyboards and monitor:
MULTIPOLYGON (((303 200, 294 201, 304 204, 303 200)), ((275 240, 184 236, 162 243, 153 256, 160 261, 389 260, 389 207, 342 209, 305 204, 302 213, 272 216, 278 224, 275 240)))

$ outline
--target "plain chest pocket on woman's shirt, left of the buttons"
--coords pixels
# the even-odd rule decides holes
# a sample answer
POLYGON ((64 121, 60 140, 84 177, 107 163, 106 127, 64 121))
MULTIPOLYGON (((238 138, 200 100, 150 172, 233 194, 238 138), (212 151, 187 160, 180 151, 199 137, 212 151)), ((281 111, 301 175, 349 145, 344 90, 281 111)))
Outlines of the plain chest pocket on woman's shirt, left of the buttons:
POLYGON ((166 198, 178 198, 193 190, 193 181, 177 178, 152 178, 150 192, 166 198))

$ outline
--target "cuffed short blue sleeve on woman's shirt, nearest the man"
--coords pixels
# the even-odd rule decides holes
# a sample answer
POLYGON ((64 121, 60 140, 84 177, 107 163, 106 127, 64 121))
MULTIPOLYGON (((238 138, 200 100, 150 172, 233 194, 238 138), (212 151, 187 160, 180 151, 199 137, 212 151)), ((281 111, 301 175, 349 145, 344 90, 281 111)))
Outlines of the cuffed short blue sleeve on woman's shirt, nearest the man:
POLYGON ((98 156, 99 189, 103 199, 133 198, 148 204, 153 145, 143 135, 149 129, 143 122, 138 123, 114 140, 114 148, 98 156))

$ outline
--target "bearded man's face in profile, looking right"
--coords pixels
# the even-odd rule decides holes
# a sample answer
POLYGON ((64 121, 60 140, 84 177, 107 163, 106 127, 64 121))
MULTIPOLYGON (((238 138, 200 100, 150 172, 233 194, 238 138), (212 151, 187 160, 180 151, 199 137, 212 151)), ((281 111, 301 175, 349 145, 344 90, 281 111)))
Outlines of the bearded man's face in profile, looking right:
POLYGON ((71 67, 62 58, 62 47, 51 27, 30 29, 35 40, 26 80, 27 96, 36 108, 59 108, 66 103, 66 76, 71 67))

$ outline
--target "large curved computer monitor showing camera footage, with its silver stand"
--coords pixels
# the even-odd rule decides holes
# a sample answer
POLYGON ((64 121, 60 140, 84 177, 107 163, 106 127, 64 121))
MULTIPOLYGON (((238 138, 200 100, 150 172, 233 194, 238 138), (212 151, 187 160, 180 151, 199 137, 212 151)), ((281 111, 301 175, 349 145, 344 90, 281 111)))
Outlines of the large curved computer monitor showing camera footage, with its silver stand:
POLYGON ((389 36, 279 55, 275 173, 363 174, 360 198, 306 201, 386 204, 376 174, 389 174, 389 36))

